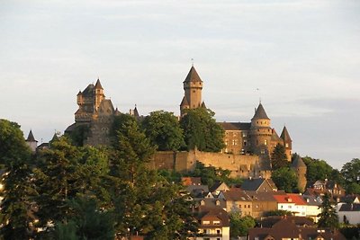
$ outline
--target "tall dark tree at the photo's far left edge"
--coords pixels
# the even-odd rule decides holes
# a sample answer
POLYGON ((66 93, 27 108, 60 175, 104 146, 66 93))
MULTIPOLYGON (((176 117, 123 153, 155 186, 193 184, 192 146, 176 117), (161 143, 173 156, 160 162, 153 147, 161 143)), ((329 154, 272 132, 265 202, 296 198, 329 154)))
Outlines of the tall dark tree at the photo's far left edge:
POLYGON ((4 171, 0 234, 4 239, 30 238, 33 220, 28 214, 32 193, 30 159, 31 151, 20 126, 0 120, 0 163, 4 171))

